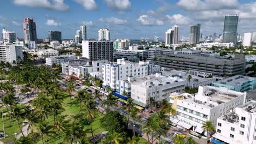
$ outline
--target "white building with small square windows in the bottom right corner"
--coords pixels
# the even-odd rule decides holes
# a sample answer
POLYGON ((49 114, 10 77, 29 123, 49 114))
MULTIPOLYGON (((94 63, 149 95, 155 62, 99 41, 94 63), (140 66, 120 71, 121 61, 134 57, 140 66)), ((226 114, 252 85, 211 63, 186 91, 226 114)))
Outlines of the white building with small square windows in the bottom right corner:
POLYGON ((226 143, 256 143, 256 101, 248 101, 219 117, 213 137, 226 143))

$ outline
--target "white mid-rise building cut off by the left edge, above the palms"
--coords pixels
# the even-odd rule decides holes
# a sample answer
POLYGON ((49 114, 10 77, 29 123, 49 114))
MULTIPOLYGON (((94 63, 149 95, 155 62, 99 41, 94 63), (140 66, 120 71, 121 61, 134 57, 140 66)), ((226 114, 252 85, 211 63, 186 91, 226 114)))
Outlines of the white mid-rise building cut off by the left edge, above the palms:
POLYGON ((0 45, 0 61, 14 63, 23 59, 22 46, 0 45))

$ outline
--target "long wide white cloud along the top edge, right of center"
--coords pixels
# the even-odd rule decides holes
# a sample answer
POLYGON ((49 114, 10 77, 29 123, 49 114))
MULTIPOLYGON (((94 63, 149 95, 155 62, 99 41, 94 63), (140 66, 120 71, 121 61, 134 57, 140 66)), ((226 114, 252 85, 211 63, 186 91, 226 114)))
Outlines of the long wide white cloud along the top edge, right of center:
POLYGON ((185 10, 219 10, 238 8, 237 0, 179 0, 177 5, 185 10))

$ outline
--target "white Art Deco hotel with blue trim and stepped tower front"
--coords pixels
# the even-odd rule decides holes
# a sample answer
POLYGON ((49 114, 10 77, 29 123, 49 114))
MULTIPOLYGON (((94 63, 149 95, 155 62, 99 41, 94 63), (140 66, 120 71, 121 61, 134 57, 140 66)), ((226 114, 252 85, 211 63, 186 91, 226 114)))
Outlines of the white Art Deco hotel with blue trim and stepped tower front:
POLYGON ((117 63, 105 63, 102 67, 103 86, 110 86, 113 91, 117 91, 119 80, 126 80, 128 77, 144 77, 160 71, 160 66, 154 66, 152 67, 149 62, 132 63, 125 59, 117 59, 117 63))

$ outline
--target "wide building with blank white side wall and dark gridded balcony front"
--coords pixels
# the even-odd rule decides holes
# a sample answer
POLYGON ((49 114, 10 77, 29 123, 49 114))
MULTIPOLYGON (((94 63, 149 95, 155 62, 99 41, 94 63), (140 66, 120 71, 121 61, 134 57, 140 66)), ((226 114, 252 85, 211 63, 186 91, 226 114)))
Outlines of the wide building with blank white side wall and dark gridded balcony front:
POLYGON ((113 41, 83 40, 82 56, 91 61, 107 59, 113 61, 113 41))

